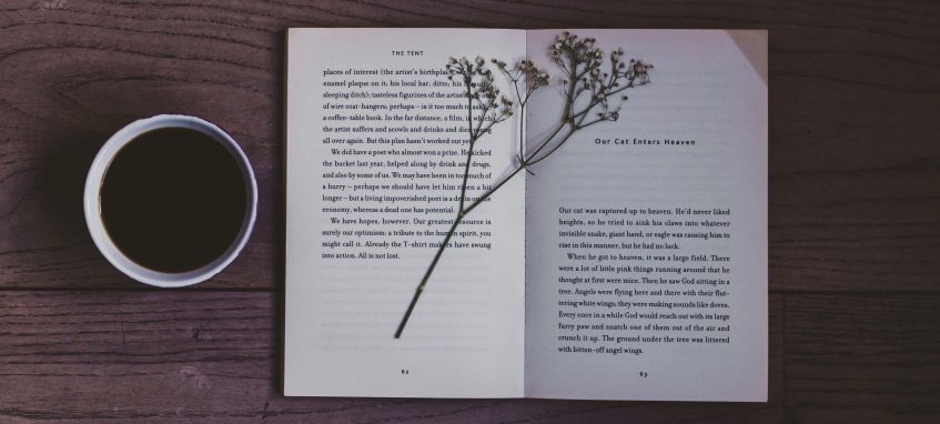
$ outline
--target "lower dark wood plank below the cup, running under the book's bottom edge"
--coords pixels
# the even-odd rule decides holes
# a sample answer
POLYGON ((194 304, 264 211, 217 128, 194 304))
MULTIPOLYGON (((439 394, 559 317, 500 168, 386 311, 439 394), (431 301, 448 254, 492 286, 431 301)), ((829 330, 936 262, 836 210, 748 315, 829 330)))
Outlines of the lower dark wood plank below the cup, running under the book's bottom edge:
POLYGON ((265 292, 0 292, 0 422, 782 422, 782 299, 770 402, 285 398, 265 292))

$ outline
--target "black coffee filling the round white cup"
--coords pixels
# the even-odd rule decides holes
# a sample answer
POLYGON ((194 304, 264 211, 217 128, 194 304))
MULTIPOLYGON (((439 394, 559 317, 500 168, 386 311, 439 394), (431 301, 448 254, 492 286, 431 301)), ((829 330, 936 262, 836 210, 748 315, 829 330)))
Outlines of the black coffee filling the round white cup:
POLYGON ((221 256, 247 213, 235 157, 202 132, 160 129, 125 144, 104 173, 101 218, 128 258, 180 273, 221 256))

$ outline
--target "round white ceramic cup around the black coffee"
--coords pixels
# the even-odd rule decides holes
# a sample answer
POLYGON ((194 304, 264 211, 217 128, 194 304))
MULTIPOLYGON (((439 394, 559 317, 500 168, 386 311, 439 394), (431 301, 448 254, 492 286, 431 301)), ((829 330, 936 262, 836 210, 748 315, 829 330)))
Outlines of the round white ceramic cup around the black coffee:
POLYGON ((111 262, 114 267, 127 274, 128 276, 142 283, 161 286, 161 287, 182 287, 205 281, 218 274, 228 266, 239 252, 245 246, 254 228, 254 220, 257 213, 257 183, 252 172, 251 163, 247 157, 235 143, 231 135, 222 131, 219 127, 211 122, 204 121, 195 117, 186 117, 179 114, 161 114, 148 119, 131 122, 104 143, 88 172, 88 179, 84 185, 84 218, 88 223, 88 230, 91 233, 91 239, 101 251, 101 254, 111 262), (125 144, 138 138, 139 135, 166 128, 181 128, 195 130, 211 137, 213 140, 225 147, 235 158, 239 168, 242 171, 245 182, 245 218, 242 221, 242 228, 239 234, 229 249, 213 260, 212 262, 192 271, 181 273, 166 273, 154 271, 138 264, 130 258, 124 255, 114 244, 114 241, 108 235, 104 229, 104 221, 101 218, 101 186, 104 181, 104 174, 111 161, 125 144))

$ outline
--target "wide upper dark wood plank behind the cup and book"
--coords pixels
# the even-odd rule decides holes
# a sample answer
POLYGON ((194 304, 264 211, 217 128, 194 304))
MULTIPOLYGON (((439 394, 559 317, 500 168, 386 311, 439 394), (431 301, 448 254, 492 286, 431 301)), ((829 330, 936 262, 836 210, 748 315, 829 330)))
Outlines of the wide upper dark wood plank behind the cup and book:
POLYGON ((283 30, 322 26, 767 28, 771 289, 940 289, 940 6, 871 0, 4 1, 0 287, 138 287, 91 244, 82 181, 164 112, 229 130, 259 176, 252 241, 202 287, 275 287, 283 30))

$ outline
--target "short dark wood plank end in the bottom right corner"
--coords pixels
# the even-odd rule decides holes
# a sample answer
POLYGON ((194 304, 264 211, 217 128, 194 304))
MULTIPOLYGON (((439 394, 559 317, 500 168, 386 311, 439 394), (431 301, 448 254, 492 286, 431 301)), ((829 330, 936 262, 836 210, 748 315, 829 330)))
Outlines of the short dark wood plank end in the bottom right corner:
POLYGON ((788 421, 940 422, 940 295, 788 294, 788 421))

